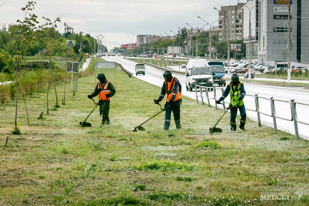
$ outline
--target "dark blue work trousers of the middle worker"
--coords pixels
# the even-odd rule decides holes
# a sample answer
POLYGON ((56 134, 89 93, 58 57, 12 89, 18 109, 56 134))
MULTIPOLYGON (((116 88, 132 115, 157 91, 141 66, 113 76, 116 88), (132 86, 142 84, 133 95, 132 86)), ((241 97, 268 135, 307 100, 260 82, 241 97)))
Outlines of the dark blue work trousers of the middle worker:
MULTIPOLYGON (((167 108, 170 103, 166 102, 164 108, 167 108)), ((165 110, 164 130, 168 130, 171 125, 171 113, 173 111, 174 120, 177 129, 181 129, 180 125, 180 100, 174 101, 170 107, 165 110)))

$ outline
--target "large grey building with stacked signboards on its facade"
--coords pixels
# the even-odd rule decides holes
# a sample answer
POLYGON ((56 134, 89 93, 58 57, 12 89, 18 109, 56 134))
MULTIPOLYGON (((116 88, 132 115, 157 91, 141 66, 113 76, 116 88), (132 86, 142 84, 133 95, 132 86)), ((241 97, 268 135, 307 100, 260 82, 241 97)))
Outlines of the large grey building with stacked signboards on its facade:
MULTIPOLYGON (((279 67, 287 65, 284 52, 288 43, 288 3, 287 1, 253 0, 246 4, 251 9, 251 36, 249 38, 249 9, 244 7, 244 43, 253 51, 251 57, 259 63, 279 67), (282 56, 281 56, 282 55, 282 56)), ((291 3, 291 66, 309 64, 309 1, 291 3), (303 56, 303 58, 301 57, 303 56)))

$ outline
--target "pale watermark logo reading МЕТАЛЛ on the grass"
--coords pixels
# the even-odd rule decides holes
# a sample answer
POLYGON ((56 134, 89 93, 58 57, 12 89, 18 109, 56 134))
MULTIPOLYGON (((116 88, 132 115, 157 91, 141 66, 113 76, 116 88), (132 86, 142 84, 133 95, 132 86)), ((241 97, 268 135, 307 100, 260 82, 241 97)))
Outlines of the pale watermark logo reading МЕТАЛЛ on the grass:
POLYGON ((261 192, 260 200, 299 200, 303 192, 298 190, 294 195, 290 192, 261 192))

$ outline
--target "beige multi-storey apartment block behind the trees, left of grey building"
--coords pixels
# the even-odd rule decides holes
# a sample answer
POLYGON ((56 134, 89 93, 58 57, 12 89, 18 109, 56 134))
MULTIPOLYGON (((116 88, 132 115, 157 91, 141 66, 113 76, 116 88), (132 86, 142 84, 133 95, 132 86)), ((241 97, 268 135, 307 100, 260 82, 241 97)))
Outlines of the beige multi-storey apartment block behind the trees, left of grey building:
POLYGON ((227 39, 227 27, 230 26, 230 40, 243 39, 243 4, 221 6, 219 12, 219 40, 227 39))

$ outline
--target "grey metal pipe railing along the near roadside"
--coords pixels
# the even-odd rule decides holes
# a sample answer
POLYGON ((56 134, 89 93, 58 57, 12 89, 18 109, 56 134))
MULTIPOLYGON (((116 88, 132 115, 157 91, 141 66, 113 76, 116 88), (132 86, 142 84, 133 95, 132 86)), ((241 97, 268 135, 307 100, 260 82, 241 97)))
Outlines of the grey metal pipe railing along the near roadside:
MULTIPOLYGON (((223 92, 224 92, 223 88, 220 88, 220 87, 205 87, 205 86, 195 85, 195 94, 196 94, 197 104, 199 102, 198 97, 201 97, 202 104, 204 104, 204 98, 205 98, 207 100, 207 102, 208 102, 208 106, 211 107, 210 99, 213 99, 215 101, 215 108, 218 109, 218 105, 216 103, 216 100, 218 100, 219 98, 217 98, 216 90, 221 90, 221 94, 223 94, 223 92), (198 89, 200 91, 197 91, 198 89), (205 89, 205 96, 203 95, 203 89, 205 89), (214 89, 214 96, 213 97, 209 96, 208 89, 214 89)), ((255 94, 255 95, 246 94, 246 96, 254 97, 255 109, 246 108, 246 110, 256 112, 257 122, 258 122, 259 127, 262 126, 260 114, 264 114, 266 116, 269 116, 269 117, 273 118, 273 130, 274 130, 274 132, 277 132, 277 118, 278 119, 283 119, 283 120, 286 120, 286 121, 291 121, 291 122, 293 121, 294 122, 295 136, 296 136, 297 139, 299 139, 298 124, 297 123, 302 123, 302 124, 305 124, 305 125, 309 126, 309 122, 304 122, 304 121, 301 121, 301 120, 298 119, 297 109, 296 109, 296 104, 309 106, 309 104, 307 104, 307 103, 298 102, 298 101, 295 101, 294 99, 292 99, 292 100, 280 100, 280 99, 274 99, 274 97, 262 97, 262 96, 259 96, 258 94, 255 94), (264 99, 264 100, 268 100, 269 101, 270 109, 271 109, 271 113, 270 114, 265 112, 265 111, 262 111, 260 109, 260 101, 259 101, 259 99, 264 99), (291 118, 286 118, 286 117, 282 117, 280 115, 277 115, 276 108, 275 108, 275 101, 289 103, 291 118)), ((226 102, 226 101, 222 101, 222 102, 223 102, 224 105, 225 105, 225 103, 229 104, 229 102, 226 102)), ((225 111, 224 107, 223 107, 223 110, 225 111)))

